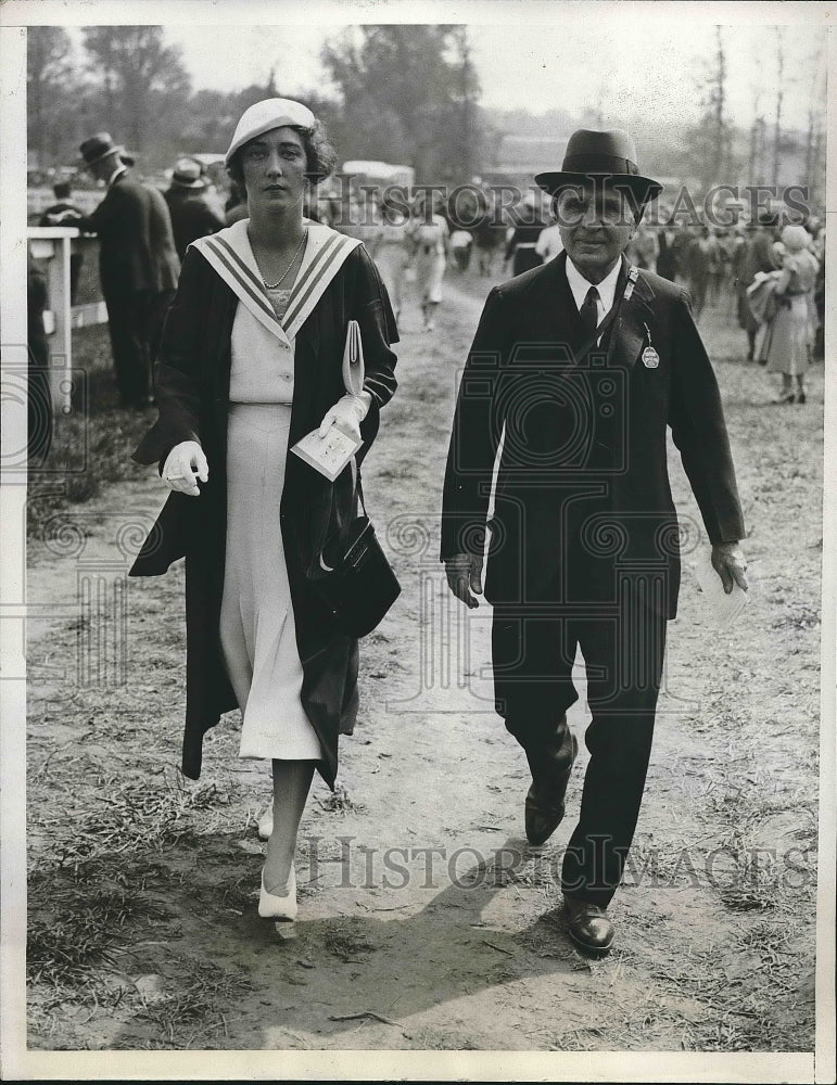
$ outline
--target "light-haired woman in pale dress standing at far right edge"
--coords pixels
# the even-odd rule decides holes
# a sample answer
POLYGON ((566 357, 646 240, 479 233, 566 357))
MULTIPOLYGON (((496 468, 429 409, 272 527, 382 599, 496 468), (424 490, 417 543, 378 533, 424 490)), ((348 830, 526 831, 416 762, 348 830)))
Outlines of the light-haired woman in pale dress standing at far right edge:
POLYGON ((810 244, 811 235, 803 226, 786 226, 782 231, 782 270, 773 291, 776 310, 762 348, 768 372, 782 373, 781 404, 806 401, 804 378, 816 329, 814 286, 820 266, 810 244))

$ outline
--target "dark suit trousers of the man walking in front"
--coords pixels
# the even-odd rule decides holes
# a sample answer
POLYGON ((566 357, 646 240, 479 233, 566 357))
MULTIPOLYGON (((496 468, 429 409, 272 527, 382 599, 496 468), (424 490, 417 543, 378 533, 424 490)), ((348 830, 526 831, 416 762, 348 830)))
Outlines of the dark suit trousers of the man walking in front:
POLYGON ((560 604, 494 610, 497 712, 525 750, 570 749, 565 713, 579 697, 576 647, 584 656, 591 758, 561 888, 603 906, 619 885, 639 815, 664 646, 665 618, 646 608, 591 608, 581 616, 560 604))

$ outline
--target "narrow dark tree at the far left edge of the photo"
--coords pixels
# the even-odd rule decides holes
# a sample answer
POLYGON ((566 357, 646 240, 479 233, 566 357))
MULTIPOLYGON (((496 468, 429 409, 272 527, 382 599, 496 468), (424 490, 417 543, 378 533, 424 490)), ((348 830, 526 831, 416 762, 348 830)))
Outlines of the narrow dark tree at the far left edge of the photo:
POLYGON ((31 26, 27 34, 28 143, 43 169, 66 150, 67 103, 76 82, 69 37, 60 26, 31 26))

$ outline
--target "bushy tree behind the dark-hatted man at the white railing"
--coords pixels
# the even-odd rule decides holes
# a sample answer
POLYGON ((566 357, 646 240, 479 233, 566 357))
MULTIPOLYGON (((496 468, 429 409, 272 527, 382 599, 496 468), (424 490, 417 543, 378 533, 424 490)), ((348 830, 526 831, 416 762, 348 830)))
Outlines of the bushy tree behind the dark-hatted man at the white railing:
POLYGON ((160 26, 89 26, 84 40, 113 118, 109 127, 143 151, 153 119, 157 146, 169 143, 190 91, 179 48, 165 44, 160 26))

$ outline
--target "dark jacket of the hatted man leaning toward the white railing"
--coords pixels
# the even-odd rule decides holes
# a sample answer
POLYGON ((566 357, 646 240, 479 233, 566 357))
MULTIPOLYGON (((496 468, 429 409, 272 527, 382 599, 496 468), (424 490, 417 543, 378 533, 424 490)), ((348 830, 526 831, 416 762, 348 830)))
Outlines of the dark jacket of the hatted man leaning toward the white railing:
POLYGON ((105 298, 138 291, 175 290, 180 263, 168 207, 150 184, 122 174, 92 215, 78 226, 99 237, 99 275, 105 298))

